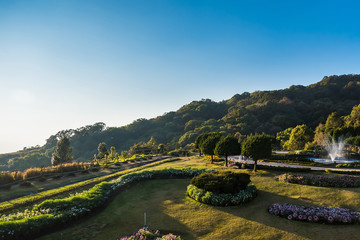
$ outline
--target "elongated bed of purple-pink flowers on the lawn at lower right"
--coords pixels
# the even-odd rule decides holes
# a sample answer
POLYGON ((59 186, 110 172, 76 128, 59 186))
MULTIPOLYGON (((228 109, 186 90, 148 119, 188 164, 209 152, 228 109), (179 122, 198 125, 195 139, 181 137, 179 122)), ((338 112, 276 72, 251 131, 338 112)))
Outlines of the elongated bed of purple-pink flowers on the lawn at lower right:
POLYGON ((360 223, 360 212, 345 208, 304 207, 292 204, 274 203, 269 213, 289 220, 317 222, 327 224, 360 223))

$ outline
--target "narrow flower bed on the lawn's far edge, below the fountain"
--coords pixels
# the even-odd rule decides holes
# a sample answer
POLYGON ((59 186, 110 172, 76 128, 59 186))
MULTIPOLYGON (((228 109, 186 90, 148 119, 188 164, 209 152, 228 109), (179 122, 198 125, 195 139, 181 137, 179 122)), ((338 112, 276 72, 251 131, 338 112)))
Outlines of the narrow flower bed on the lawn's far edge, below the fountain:
POLYGON ((345 175, 313 175, 285 173, 277 177, 280 182, 318 187, 359 187, 360 177, 345 175))

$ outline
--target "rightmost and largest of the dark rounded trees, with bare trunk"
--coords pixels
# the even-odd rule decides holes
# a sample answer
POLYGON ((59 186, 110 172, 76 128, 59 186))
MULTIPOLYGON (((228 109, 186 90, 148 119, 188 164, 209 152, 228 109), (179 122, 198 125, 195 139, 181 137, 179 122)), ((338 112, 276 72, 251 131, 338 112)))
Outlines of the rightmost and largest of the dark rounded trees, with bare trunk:
POLYGON ((274 137, 266 134, 247 137, 242 144, 242 154, 254 160, 254 172, 257 170, 257 161, 271 157, 271 146, 274 137))

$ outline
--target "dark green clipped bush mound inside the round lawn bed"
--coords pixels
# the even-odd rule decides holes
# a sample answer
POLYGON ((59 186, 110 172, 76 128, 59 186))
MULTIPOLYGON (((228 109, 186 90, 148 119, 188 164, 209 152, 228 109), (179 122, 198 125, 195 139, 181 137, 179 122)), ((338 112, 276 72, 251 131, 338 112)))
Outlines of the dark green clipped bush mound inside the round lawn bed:
POLYGON ((202 173, 191 179, 192 185, 213 193, 238 193, 249 183, 249 174, 233 172, 202 173))

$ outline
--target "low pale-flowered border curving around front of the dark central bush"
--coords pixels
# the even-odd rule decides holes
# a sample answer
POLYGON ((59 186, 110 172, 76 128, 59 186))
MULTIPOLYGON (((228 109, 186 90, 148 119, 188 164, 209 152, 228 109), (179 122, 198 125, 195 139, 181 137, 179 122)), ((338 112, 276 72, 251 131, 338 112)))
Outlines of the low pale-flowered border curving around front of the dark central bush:
POLYGON ((186 193, 189 197, 201 203, 214 206, 231 206, 241 205, 254 199, 257 195, 257 189, 254 185, 249 185, 236 194, 213 193, 190 184, 186 193))

